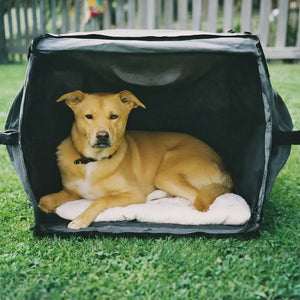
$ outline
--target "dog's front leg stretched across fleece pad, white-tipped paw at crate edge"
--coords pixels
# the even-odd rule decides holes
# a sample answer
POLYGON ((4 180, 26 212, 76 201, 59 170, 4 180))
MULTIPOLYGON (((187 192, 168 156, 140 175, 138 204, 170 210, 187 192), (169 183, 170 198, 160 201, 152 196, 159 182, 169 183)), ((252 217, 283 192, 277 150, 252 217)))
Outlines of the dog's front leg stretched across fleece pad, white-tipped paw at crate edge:
POLYGON ((88 227, 96 217, 103 211, 111 207, 123 207, 130 204, 145 203, 144 194, 121 193, 118 195, 103 196, 95 201, 77 218, 69 223, 69 229, 80 229, 88 227))

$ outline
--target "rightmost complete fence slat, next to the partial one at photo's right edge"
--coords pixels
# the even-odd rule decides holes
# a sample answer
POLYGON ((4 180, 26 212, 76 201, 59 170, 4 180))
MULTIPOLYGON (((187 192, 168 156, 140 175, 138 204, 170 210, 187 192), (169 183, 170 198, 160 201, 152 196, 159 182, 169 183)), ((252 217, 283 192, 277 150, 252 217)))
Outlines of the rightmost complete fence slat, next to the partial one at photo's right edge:
POLYGON ((284 47, 286 41, 286 29, 287 20, 289 13, 289 0, 279 1, 279 16, 277 21, 277 31, 276 31, 276 47, 284 47))

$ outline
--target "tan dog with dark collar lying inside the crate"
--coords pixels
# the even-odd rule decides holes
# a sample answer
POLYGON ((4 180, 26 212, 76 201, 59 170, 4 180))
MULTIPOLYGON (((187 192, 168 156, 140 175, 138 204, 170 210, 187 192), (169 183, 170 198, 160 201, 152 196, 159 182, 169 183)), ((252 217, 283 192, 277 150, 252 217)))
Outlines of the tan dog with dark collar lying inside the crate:
POLYGON ((61 96, 73 110, 71 135, 59 146, 58 166, 64 189, 44 196, 49 213, 77 199, 94 200, 68 228, 88 227, 107 208, 144 203, 155 189, 189 199, 207 211, 232 188, 220 157, 200 140, 179 133, 127 131, 130 111, 145 106, 130 92, 61 96))

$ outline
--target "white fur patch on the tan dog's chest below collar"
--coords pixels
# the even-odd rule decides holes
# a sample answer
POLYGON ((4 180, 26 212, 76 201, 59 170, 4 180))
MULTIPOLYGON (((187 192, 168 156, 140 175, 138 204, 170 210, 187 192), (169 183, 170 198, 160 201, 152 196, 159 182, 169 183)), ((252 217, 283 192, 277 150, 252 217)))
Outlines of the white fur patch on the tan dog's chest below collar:
POLYGON ((85 166, 85 179, 77 179, 67 184, 67 188, 76 190, 84 199, 95 200, 105 194, 101 182, 97 180, 97 164, 85 166))

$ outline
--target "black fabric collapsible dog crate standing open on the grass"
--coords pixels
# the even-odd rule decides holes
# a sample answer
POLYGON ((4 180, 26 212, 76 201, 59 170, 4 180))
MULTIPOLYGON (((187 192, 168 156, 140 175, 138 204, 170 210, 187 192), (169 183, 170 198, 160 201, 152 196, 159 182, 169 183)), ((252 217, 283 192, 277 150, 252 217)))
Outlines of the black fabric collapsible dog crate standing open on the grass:
POLYGON ((1 143, 35 211, 35 231, 70 233, 68 221, 38 208, 61 189, 56 147, 73 114, 62 94, 132 91, 147 107, 128 128, 185 132, 208 143, 230 170, 234 192, 248 202, 242 226, 96 222, 80 232, 237 234, 255 231, 263 203, 296 142, 292 122, 272 89, 262 47, 252 34, 102 31, 43 35, 29 49, 26 80, 10 109, 1 143))

